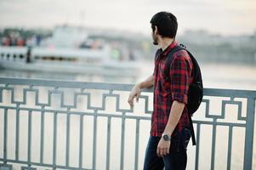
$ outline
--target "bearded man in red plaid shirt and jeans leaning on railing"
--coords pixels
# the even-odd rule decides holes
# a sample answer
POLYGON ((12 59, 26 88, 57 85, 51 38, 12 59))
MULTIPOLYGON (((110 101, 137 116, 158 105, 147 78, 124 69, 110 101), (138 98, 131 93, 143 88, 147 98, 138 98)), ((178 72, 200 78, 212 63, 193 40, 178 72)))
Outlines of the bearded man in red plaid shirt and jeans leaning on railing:
POLYGON ((191 137, 187 94, 192 82, 193 63, 184 50, 174 53, 170 63, 169 81, 164 77, 166 59, 178 44, 175 41, 178 22, 174 14, 159 12, 151 19, 153 44, 156 51, 153 75, 132 88, 128 103, 134 106, 142 88, 154 86, 154 107, 151 116, 151 136, 145 152, 144 169, 185 169, 186 146, 191 137))

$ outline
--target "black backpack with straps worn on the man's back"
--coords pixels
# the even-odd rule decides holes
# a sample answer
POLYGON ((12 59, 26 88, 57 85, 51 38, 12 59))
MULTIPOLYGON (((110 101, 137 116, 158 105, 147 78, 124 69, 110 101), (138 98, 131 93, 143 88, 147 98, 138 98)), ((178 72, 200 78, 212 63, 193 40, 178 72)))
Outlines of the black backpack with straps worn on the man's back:
MULTIPOLYGON (((193 145, 196 144, 196 138, 195 138, 195 133, 194 133, 194 128, 193 128, 193 123, 191 120, 191 116, 196 112, 198 109, 199 105, 202 102, 202 96, 203 96, 203 87, 202 87, 202 74, 200 67, 194 58, 194 56, 189 52, 184 45, 180 44, 175 46, 173 49, 168 54, 168 59, 166 60, 167 64, 167 69, 164 72, 164 75, 166 77, 167 81, 170 81, 169 77, 169 71, 170 71, 170 65, 174 59, 173 55, 174 53, 178 52, 179 50, 185 49, 187 53, 190 55, 191 60, 193 62, 193 81, 190 84, 189 90, 188 90, 188 102, 187 102, 187 109, 190 114, 190 122, 191 122, 191 130, 192 130, 192 142, 193 145)), ((179 57, 179 56, 178 56, 179 57)))

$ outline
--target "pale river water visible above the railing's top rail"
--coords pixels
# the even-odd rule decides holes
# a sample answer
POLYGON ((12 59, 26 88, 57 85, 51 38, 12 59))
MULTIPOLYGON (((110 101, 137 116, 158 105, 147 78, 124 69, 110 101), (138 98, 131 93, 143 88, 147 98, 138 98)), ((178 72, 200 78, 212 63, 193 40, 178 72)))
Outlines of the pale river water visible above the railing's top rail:
MULTIPOLYGON (((154 70, 153 61, 139 61, 141 65, 137 77, 98 76, 92 74, 61 74, 39 71, 9 71, 0 70, 0 77, 27 77, 54 80, 74 80, 82 82, 112 82, 129 83, 143 81, 154 70)), ((224 65, 201 64, 203 83, 205 88, 236 88, 256 90, 256 66, 252 65, 224 65)))

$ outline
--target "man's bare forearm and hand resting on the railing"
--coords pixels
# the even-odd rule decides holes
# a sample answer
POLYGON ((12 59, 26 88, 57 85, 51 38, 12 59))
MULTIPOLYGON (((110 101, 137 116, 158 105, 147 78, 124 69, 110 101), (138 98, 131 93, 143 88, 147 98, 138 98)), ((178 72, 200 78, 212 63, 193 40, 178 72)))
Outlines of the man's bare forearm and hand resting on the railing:
POLYGON ((150 77, 146 78, 145 81, 139 82, 138 84, 134 85, 132 88, 131 93, 128 98, 128 103, 131 107, 134 107, 134 98, 136 97, 136 101, 139 101, 140 90, 142 88, 151 88, 154 85, 154 77, 151 75, 150 77))

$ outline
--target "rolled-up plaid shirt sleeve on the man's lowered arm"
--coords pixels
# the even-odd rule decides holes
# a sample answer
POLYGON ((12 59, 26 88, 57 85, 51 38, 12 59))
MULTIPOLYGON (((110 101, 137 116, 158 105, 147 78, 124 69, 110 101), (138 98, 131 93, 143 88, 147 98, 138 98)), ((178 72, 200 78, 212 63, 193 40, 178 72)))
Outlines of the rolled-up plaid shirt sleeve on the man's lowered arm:
POLYGON ((180 50, 174 54, 169 72, 173 100, 187 104, 192 68, 191 58, 185 50, 180 50))

